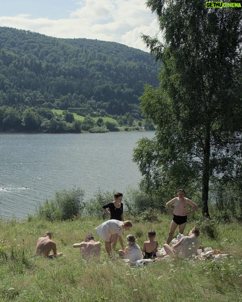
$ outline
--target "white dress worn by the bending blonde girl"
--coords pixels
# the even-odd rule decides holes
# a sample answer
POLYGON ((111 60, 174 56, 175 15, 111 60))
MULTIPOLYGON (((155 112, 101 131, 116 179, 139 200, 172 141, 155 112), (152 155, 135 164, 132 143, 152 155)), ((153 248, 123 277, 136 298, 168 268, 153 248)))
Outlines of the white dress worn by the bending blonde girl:
POLYGON ((123 222, 110 219, 108 221, 103 222, 100 226, 95 228, 97 235, 103 239, 104 241, 110 241, 111 235, 118 234, 119 236, 123 233, 123 227, 119 230, 119 226, 122 226, 123 222))

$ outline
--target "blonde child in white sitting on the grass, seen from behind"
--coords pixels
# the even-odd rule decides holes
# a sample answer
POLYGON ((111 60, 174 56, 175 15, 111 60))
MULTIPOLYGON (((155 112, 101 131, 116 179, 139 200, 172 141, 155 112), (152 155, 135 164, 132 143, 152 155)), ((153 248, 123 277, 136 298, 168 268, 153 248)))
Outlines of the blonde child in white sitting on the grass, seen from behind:
POLYGON ((123 259, 130 259, 132 261, 143 259, 144 257, 142 251, 138 244, 135 243, 135 236, 129 234, 126 239, 128 245, 126 246, 124 251, 122 249, 119 250, 119 257, 123 259))

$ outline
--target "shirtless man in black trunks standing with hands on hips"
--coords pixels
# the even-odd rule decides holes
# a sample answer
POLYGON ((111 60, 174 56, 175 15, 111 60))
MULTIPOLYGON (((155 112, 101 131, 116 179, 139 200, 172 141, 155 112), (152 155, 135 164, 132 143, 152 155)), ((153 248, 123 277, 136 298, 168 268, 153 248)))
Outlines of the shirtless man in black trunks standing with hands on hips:
POLYGON ((172 237, 178 225, 179 225, 179 233, 183 234, 185 230, 185 226, 187 224, 187 217, 198 209, 198 206, 194 202, 184 197, 185 195, 184 189, 179 189, 177 194, 178 197, 173 198, 172 200, 168 201, 168 203, 166 204, 168 211, 173 215, 169 235, 166 240, 167 244, 170 244, 170 242, 172 241, 172 237), (171 204, 175 204, 174 212, 170 208, 171 204), (187 213, 188 204, 190 204, 193 207, 193 209, 187 213))

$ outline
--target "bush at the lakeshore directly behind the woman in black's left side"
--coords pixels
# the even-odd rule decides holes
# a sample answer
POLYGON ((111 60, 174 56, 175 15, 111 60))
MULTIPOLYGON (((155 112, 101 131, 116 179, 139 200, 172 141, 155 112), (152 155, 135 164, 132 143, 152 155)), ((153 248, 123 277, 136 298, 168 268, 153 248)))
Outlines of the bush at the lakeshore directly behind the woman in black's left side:
MULTIPOLYGON (((94 198, 90 198, 87 200, 85 204, 84 215, 85 216, 92 216, 99 219, 107 218, 107 214, 103 211, 102 205, 112 202, 114 200, 114 194, 116 191, 113 192, 103 192, 102 189, 98 189, 94 193, 94 198)), ((110 216, 108 216, 110 219, 110 216)))

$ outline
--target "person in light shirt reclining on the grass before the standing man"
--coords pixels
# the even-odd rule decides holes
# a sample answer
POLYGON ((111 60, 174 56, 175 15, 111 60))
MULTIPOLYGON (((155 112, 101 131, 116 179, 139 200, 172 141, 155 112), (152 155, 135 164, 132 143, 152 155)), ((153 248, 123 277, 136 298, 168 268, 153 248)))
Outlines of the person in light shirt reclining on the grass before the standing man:
POLYGON ((172 244, 170 247, 167 243, 164 244, 165 252, 168 255, 174 255, 175 253, 182 259, 195 254, 197 249, 199 249, 200 243, 197 237, 200 235, 198 228, 194 227, 189 232, 188 236, 184 236, 181 240, 176 243, 172 244), (180 250, 179 250, 180 247, 180 250))

